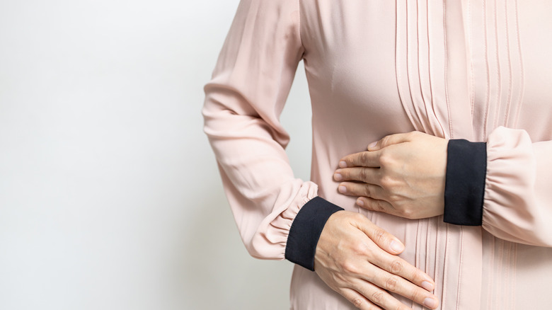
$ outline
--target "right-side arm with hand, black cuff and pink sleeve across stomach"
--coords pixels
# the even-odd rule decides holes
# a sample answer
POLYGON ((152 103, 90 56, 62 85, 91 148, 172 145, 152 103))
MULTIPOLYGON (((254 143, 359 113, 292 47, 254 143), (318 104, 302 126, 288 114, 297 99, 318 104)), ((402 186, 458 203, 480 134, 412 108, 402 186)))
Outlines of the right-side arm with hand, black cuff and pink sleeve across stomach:
POLYGON ((487 142, 448 143, 411 132, 345 156, 336 179, 367 209, 412 219, 444 214, 444 222, 482 225, 501 239, 552 246, 551 158, 552 141, 533 143, 524 130, 498 127, 487 142))

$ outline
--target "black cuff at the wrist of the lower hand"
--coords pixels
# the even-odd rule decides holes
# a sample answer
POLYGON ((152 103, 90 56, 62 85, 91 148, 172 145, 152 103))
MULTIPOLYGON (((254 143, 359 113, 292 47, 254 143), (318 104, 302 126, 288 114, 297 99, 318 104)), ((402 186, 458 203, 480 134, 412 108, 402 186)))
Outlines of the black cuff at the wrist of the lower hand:
POLYGON ((314 271, 314 254, 322 229, 330 215, 340 210, 343 208, 321 197, 306 202, 289 229, 285 258, 314 271))

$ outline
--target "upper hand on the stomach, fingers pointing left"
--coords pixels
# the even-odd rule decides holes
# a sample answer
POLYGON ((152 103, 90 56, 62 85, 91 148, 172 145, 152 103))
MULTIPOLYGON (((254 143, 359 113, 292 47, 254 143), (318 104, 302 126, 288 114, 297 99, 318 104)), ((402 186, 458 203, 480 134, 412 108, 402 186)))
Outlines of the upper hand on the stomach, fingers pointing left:
POLYGON ((360 196, 357 205, 364 209, 408 219, 436 217, 444 209, 447 144, 422 132, 391 134, 368 151, 345 156, 333 177, 345 181, 340 193, 360 196))

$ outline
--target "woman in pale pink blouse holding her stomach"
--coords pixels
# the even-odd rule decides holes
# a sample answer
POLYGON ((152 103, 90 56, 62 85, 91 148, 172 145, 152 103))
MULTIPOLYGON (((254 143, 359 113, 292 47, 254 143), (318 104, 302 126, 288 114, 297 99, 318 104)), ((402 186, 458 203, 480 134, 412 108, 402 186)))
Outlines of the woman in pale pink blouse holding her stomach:
POLYGON ((549 1, 241 1, 205 132, 249 253, 297 264, 292 309, 550 304, 548 16, 549 1), (301 59, 310 181, 278 121, 301 59))

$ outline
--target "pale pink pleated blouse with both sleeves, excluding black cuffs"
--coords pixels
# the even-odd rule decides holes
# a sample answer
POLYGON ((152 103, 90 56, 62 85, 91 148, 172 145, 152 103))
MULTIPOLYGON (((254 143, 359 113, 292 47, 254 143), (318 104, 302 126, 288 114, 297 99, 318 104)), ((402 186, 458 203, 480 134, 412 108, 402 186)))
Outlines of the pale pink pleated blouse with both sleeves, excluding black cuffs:
MULTIPOLYGON (((551 18, 546 0, 242 0, 202 113, 249 253, 283 259, 319 195, 401 239, 440 309, 551 309, 551 18), (311 180, 294 178, 278 120, 301 60, 311 180), (412 130, 487 142, 483 226, 368 212, 338 193, 341 157, 412 130)), ((291 307, 355 309, 298 265, 291 307)))

